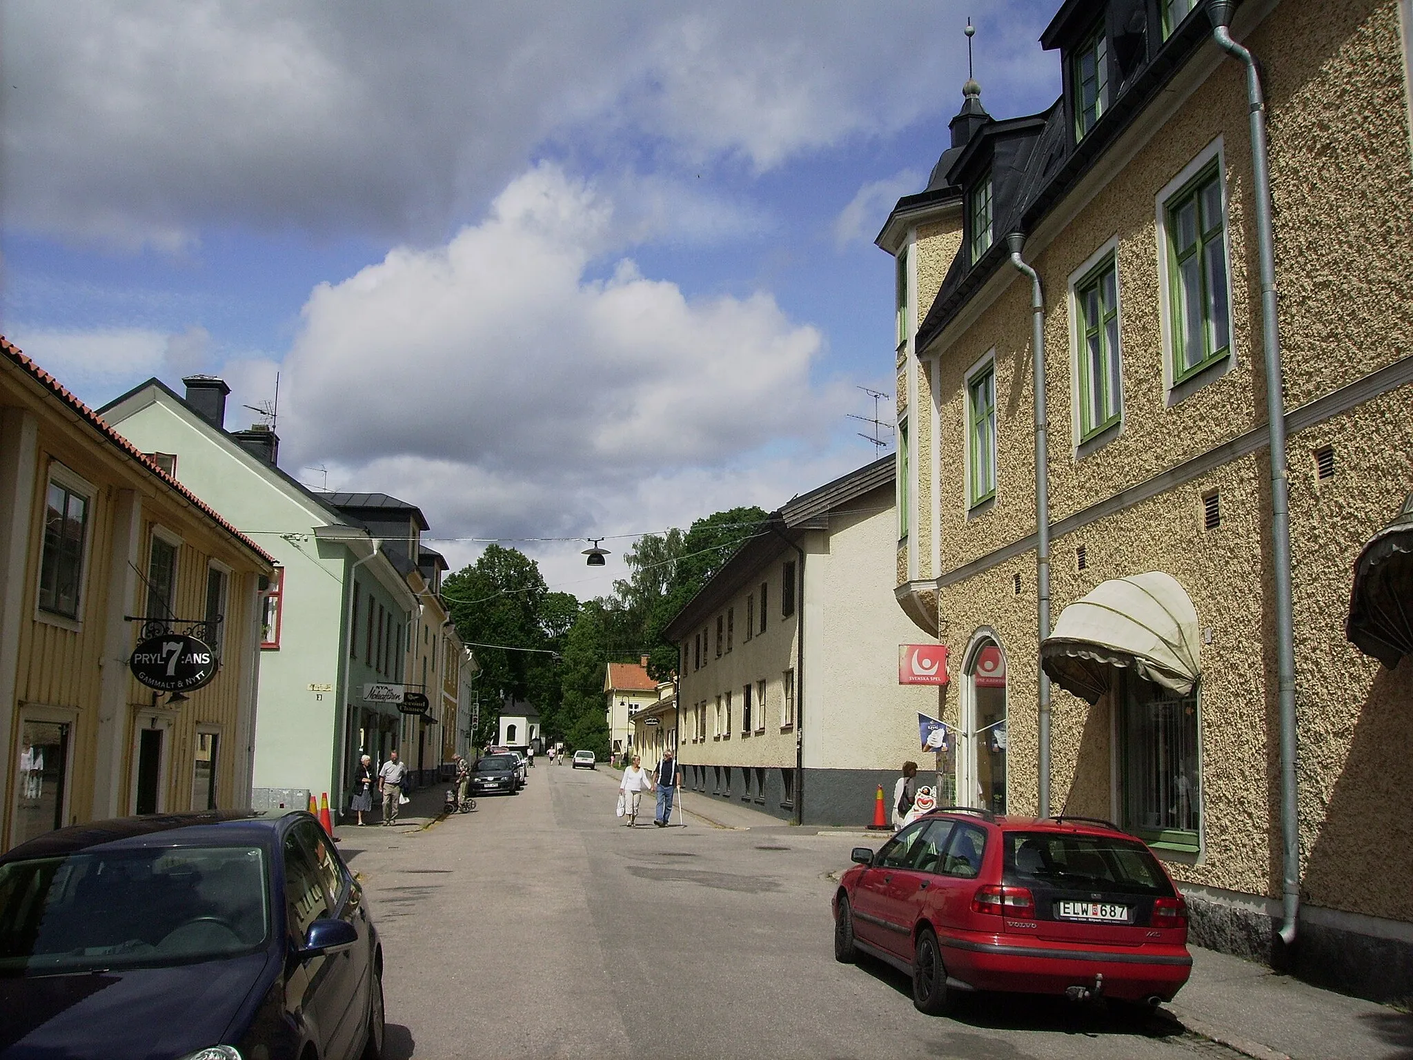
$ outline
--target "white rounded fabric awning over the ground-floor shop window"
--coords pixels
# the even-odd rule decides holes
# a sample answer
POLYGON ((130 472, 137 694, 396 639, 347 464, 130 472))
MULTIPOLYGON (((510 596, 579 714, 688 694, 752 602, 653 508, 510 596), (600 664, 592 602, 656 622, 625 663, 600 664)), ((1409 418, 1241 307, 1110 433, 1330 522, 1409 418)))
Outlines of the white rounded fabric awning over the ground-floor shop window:
POLYGON ((1113 667, 1188 695, 1200 674, 1197 611, 1161 571, 1101 582, 1060 612, 1040 644, 1050 680, 1091 704, 1108 691, 1113 667))

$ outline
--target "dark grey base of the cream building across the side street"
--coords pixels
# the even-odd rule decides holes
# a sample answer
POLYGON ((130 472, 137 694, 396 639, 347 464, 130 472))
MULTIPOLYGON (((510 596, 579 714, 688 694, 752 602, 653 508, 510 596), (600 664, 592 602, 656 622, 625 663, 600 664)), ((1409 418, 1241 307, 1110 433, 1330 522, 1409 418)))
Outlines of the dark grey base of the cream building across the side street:
MULTIPOLYGON (((718 799, 735 806, 746 806, 783 821, 794 821, 793 791, 786 791, 786 775, 796 770, 769 767, 764 770, 764 791, 757 790, 760 770, 743 766, 684 766, 682 786, 688 791, 718 799), (749 786, 746 770, 750 770, 749 786), (728 779, 729 775, 729 779, 728 779)), ((883 813, 893 820, 893 784, 901 776, 887 769, 805 769, 804 821, 822 827, 866 827, 873 823, 873 804, 883 786, 883 813)))

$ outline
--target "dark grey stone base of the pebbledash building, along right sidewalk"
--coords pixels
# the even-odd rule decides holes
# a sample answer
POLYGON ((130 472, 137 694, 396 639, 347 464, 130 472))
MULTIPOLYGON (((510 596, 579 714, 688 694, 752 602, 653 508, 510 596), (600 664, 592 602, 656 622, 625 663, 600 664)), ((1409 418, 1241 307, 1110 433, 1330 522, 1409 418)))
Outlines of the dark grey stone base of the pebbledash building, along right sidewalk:
POLYGON ((1413 1002, 1413 929, 1406 924, 1358 917, 1392 929, 1389 934, 1369 934, 1335 923, 1355 917, 1303 906, 1296 944, 1287 950, 1276 934, 1280 913, 1275 903, 1246 896, 1217 897, 1205 889, 1183 888, 1183 892, 1188 938, 1197 946, 1260 961, 1356 998, 1403 1006, 1413 1002))

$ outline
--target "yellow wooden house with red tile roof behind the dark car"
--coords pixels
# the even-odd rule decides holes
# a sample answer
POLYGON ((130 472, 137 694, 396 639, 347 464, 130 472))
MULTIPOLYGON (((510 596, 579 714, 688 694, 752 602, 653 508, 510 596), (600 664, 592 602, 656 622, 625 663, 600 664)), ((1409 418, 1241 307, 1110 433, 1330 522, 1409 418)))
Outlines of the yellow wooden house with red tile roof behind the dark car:
POLYGON ((249 806, 271 560, 0 338, 0 849, 81 821, 249 806), (146 628, 219 659, 129 670, 146 628))

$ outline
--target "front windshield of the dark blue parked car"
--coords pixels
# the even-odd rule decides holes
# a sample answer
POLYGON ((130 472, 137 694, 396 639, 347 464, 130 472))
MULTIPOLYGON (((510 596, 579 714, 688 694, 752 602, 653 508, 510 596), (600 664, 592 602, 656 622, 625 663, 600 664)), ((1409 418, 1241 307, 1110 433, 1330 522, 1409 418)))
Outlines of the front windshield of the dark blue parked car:
POLYGON ((162 967, 270 934, 257 847, 86 851, 0 866, 0 975, 162 967))

